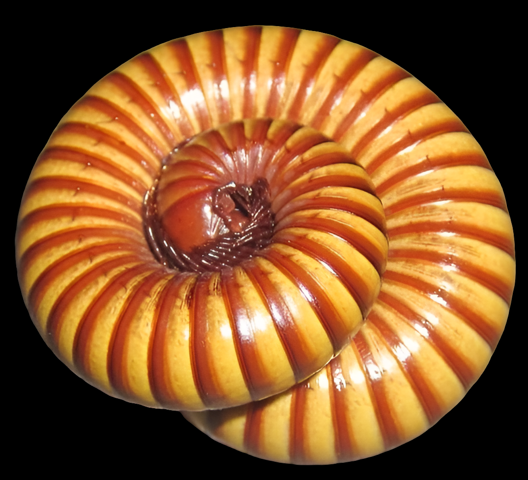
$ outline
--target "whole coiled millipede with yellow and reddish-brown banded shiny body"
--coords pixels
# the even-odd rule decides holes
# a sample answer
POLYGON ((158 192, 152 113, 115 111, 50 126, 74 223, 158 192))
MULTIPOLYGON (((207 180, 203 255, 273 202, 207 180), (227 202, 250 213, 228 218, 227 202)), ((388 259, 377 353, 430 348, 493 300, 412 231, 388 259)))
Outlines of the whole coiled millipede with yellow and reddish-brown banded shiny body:
POLYGON ((282 27, 167 42, 93 86, 33 168, 16 256, 80 377, 300 464, 436 423, 515 278, 502 187, 460 119, 378 54, 282 27))

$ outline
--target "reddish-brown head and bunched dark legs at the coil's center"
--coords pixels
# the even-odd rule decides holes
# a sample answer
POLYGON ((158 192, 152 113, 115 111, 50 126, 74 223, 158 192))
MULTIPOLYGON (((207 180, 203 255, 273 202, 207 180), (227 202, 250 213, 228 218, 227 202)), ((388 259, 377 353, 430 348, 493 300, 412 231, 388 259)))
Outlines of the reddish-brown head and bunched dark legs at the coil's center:
POLYGON ((233 267, 266 247, 274 229, 269 185, 230 182, 193 195, 160 218, 157 182, 144 201, 144 228, 150 249, 163 265, 186 271, 233 267))

